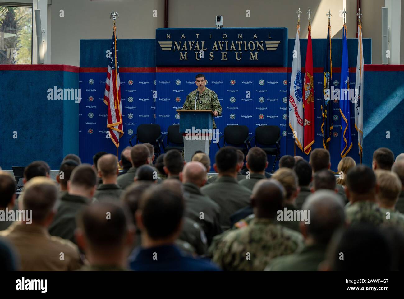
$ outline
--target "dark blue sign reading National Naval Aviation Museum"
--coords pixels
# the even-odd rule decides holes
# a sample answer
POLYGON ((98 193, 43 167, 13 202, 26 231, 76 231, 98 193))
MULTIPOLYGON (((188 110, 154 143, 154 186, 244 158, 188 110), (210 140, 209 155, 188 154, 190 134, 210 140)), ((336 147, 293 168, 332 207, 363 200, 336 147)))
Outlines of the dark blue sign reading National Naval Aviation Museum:
POLYGON ((156 66, 286 66, 287 28, 159 28, 156 66))

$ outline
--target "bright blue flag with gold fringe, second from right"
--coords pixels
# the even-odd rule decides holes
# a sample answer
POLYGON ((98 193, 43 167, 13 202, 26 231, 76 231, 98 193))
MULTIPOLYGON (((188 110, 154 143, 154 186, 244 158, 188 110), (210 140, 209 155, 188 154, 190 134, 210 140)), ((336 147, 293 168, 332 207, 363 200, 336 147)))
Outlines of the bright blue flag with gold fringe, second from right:
POLYGON ((347 46, 347 26, 342 28, 342 64, 340 83, 339 112, 341 112, 341 158, 345 157, 352 148, 351 137, 351 112, 349 91, 349 68, 348 68, 348 46, 347 46))

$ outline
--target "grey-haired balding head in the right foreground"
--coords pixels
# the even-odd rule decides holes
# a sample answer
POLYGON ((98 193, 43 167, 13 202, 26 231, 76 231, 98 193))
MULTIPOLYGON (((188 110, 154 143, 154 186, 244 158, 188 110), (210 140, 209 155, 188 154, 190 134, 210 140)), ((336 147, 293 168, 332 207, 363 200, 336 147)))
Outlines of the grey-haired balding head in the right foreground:
POLYGON ((302 209, 310 211, 310 223, 301 222, 300 229, 316 244, 328 244, 333 233, 344 225, 343 199, 334 191, 316 191, 307 197, 302 209))

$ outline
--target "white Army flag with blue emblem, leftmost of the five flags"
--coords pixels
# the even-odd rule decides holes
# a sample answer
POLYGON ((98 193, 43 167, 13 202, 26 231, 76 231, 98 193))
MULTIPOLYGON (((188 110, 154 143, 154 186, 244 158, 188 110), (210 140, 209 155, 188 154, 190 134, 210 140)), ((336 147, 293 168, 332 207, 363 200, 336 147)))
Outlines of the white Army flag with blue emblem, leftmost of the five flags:
POLYGON ((303 151, 303 124, 302 79, 298 26, 295 38, 295 49, 293 50, 292 75, 290 77, 289 127, 293 132, 295 143, 301 151, 303 151))

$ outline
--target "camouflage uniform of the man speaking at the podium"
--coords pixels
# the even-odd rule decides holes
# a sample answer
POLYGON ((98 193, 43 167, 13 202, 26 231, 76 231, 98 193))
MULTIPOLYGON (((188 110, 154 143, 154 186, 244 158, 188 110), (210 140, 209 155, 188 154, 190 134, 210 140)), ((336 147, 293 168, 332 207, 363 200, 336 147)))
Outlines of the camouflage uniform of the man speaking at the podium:
MULTIPOLYGON (((187 95, 187 100, 185 100, 183 109, 195 109, 195 89, 189 95, 187 95)), ((222 114, 222 106, 220 105, 219 99, 215 91, 205 87, 205 90, 199 94, 198 101, 196 101, 196 109, 211 109, 213 112, 217 111, 218 115, 222 114)), ((216 129, 215 120, 213 120, 213 129, 216 129)))

